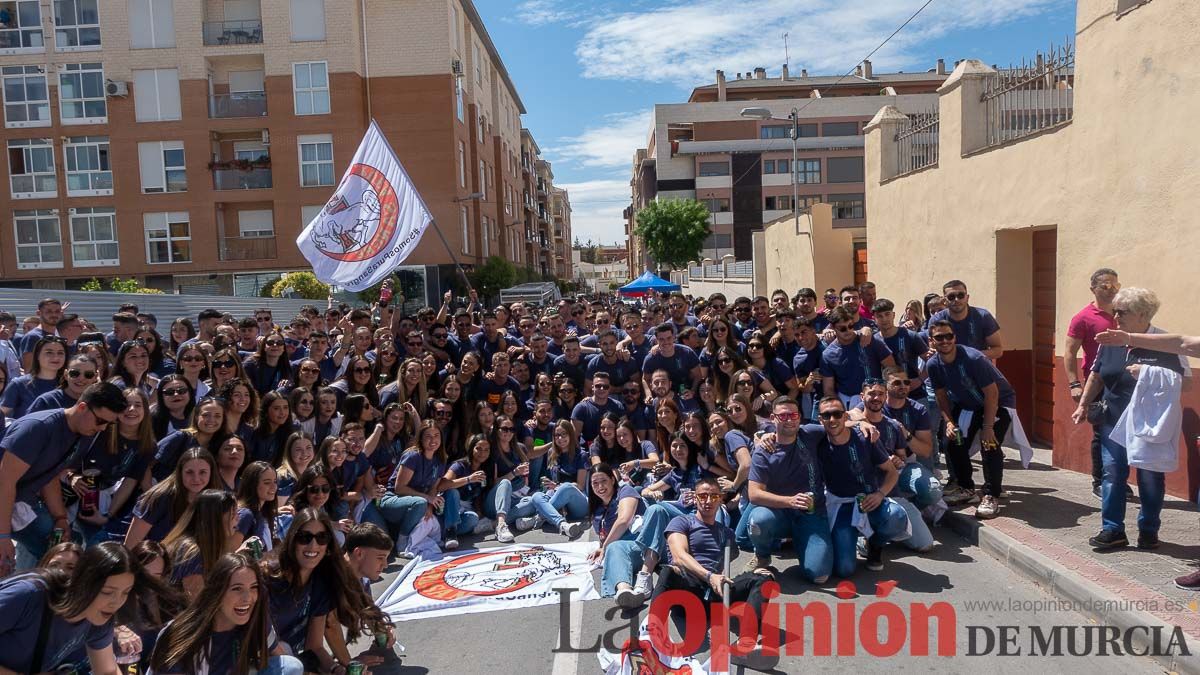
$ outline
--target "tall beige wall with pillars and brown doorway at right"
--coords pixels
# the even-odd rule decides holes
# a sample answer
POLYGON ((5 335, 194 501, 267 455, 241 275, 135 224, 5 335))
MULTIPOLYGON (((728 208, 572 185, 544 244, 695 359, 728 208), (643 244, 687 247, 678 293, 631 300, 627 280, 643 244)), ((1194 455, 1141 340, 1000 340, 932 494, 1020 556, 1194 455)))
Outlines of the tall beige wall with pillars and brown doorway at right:
POLYGON ((1200 62, 1183 58, 1200 53, 1200 4, 1153 0, 1120 18, 1115 8, 1079 0, 1069 125, 964 156, 980 118, 978 76, 962 64, 942 90, 940 166, 888 180, 894 127, 876 118, 866 209, 881 294, 899 304, 962 279, 973 304, 996 310, 1006 347, 1031 348, 1031 233, 1056 227, 1056 352, 1099 267, 1158 292, 1156 324, 1200 333, 1184 281, 1200 250, 1200 62))

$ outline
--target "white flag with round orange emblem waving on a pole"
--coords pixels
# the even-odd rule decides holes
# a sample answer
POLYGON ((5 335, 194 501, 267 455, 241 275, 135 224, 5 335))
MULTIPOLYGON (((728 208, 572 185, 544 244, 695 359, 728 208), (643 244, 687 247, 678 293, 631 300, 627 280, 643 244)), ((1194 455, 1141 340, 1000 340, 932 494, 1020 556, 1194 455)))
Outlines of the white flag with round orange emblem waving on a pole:
POLYGON ((433 216, 371 120, 334 196, 296 238, 324 283, 362 291, 385 279, 420 243, 433 216))

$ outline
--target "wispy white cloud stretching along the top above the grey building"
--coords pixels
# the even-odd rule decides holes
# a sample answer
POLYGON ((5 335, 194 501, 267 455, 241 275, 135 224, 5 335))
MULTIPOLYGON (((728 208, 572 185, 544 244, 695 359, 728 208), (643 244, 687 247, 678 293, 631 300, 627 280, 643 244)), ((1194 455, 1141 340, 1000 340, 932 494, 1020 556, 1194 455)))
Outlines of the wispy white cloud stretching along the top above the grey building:
MULTIPOLYGON (((916 47, 947 32, 998 25, 1069 0, 947 0, 930 5, 872 61, 886 68, 917 62, 916 47)), ((793 71, 841 73, 874 49, 924 0, 695 0, 594 20, 576 47, 584 77, 710 82, 716 68, 775 70, 788 32, 793 71)), ((953 56, 953 55, 952 55, 953 56)))

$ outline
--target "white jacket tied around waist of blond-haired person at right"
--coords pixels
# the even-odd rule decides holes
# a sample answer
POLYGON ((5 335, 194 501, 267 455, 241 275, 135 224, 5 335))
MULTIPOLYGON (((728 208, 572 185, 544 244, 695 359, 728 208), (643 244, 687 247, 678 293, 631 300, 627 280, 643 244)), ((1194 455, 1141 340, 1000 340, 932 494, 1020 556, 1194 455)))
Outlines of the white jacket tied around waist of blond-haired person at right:
POLYGON ((1129 466, 1169 473, 1180 466, 1183 435, 1183 376, 1174 370, 1142 365, 1133 399, 1109 438, 1124 446, 1129 466))

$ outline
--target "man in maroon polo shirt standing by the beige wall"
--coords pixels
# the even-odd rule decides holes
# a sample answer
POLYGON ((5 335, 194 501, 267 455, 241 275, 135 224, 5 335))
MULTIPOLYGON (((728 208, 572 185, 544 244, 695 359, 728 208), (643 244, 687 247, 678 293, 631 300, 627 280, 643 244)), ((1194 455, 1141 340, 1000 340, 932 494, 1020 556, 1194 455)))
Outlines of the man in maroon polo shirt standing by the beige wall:
MULTIPOLYGON (((1099 350, 1096 335, 1116 327, 1116 319, 1112 318, 1112 298, 1120 289, 1121 282, 1117 281, 1116 271, 1109 268, 1093 271, 1092 295, 1094 300, 1079 310, 1067 328, 1067 344, 1062 354, 1062 364, 1067 370, 1070 399, 1075 402, 1079 402, 1079 398, 1084 394, 1084 382, 1087 380, 1087 374, 1092 371, 1092 363, 1096 360, 1097 350, 1099 350), (1079 364, 1080 347, 1084 348, 1082 371, 1080 371, 1079 364)), ((1099 434, 1099 426, 1094 426, 1092 430, 1092 494, 1097 498, 1100 496, 1100 478, 1104 473, 1100 461, 1099 434)))

